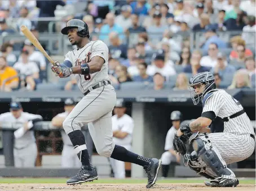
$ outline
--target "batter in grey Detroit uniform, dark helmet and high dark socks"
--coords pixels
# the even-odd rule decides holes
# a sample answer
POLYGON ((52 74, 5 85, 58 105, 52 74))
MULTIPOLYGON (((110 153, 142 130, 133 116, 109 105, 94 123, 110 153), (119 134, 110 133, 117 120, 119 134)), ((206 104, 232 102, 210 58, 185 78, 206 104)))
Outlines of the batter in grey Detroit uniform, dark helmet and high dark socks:
POLYGON ((101 40, 90 41, 88 26, 82 20, 68 21, 61 33, 68 35, 72 46, 76 45, 77 48, 66 54, 63 64, 57 61, 51 69, 60 78, 75 75, 77 85, 84 95, 63 122, 63 128, 82 163, 81 170, 67 184, 98 179, 81 131, 81 127, 88 124, 96 150, 101 156, 143 166, 148 176, 147 188, 152 187, 156 183, 161 160, 139 156, 113 142, 111 117, 116 104, 116 92, 108 76, 107 45, 101 40))

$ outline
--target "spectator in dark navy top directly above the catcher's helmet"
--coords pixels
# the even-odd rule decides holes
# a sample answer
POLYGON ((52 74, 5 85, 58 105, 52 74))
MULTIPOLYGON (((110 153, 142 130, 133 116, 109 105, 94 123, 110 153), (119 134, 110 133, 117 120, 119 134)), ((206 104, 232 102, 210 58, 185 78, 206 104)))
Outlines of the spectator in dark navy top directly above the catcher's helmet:
POLYGON ((187 65, 184 67, 183 72, 185 73, 192 73, 193 75, 196 75, 200 72, 210 71, 209 67, 201 66, 200 60, 202 58, 202 53, 198 50, 193 51, 191 59, 190 59, 190 65, 187 65))

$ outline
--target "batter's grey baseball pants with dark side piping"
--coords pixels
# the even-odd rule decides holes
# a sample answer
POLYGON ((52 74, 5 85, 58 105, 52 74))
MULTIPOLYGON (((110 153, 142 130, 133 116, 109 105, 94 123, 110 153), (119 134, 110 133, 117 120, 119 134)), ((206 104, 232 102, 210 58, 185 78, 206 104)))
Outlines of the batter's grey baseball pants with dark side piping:
POLYGON ((91 138, 101 156, 110 157, 113 149, 112 111, 116 91, 112 85, 92 90, 85 95, 63 122, 67 134, 88 124, 91 138))

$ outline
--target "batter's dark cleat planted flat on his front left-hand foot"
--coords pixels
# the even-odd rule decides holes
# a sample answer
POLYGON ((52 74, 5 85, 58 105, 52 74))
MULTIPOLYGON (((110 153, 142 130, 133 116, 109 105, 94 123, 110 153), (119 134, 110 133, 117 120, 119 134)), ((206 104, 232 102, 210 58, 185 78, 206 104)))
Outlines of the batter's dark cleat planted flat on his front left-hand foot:
POLYGON ((82 166, 81 170, 77 172, 76 175, 72 176, 69 180, 67 180, 68 185, 74 184, 82 184, 87 181, 98 180, 98 174, 96 168, 92 168, 92 170, 88 170, 88 166, 82 166))

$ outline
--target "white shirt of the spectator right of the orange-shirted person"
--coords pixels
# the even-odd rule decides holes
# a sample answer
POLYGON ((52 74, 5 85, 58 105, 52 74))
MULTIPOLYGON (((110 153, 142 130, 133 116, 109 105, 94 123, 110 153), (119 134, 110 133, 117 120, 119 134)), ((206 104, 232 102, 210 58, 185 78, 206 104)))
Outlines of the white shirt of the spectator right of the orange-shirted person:
POLYGON ((34 62, 16 62, 14 64, 14 69, 19 70, 20 74, 23 75, 33 75, 34 73, 39 72, 39 68, 34 62))

